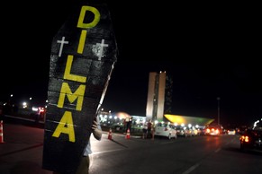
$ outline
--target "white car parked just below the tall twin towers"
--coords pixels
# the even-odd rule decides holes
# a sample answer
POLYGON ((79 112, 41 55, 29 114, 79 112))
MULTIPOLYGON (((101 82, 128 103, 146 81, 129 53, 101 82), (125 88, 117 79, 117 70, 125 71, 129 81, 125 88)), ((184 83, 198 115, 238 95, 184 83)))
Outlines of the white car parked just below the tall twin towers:
POLYGON ((155 136, 164 136, 168 139, 176 139, 176 127, 170 123, 158 123, 155 126, 155 136))

